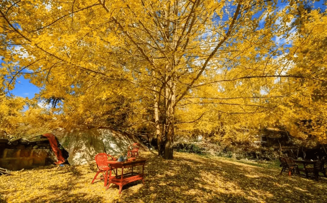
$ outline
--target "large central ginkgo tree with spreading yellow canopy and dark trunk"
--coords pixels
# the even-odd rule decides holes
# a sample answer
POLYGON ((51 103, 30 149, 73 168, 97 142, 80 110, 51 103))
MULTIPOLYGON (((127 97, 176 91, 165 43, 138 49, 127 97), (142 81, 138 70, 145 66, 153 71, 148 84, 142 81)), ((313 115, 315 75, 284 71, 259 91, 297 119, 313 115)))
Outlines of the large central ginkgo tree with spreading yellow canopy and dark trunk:
POLYGON ((117 95, 127 98, 138 121, 155 126, 159 155, 172 159, 174 125, 269 112, 286 96, 261 94, 280 86, 276 78, 313 80, 283 71, 294 53, 276 39, 297 38, 289 33, 303 2, 278 3, 5 0, 6 86, 24 74, 44 98, 63 98, 58 124, 100 122, 117 95))

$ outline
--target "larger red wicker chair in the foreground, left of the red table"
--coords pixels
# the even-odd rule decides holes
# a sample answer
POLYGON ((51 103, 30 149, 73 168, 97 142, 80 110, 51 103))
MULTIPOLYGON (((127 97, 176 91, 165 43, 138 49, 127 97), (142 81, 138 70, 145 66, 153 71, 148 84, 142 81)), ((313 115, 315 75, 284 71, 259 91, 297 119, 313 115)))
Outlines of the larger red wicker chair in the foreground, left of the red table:
POLYGON ((111 157, 112 158, 111 160, 113 161, 117 160, 111 155, 106 153, 99 153, 95 155, 95 163, 99 170, 98 172, 96 172, 95 177, 92 180, 91 184, 94 183, 95 179, 104 179, 104 186, 107 186, 108 175, 109 175, 109 171, 111 170, 111 168, 108 166, 108 157, 111 157), (99 173, 102 173, 103 177, 96 178, 99 175, 99 173))

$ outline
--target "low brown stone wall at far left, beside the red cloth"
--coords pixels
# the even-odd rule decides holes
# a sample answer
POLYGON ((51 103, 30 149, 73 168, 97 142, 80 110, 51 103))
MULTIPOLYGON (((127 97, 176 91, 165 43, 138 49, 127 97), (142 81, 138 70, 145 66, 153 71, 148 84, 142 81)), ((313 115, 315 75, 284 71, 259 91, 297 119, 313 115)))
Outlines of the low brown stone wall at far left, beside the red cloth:
POLYGON ((51 149, 0 149, 0 167, 17 171, 44 166, 53 156, 51 149))

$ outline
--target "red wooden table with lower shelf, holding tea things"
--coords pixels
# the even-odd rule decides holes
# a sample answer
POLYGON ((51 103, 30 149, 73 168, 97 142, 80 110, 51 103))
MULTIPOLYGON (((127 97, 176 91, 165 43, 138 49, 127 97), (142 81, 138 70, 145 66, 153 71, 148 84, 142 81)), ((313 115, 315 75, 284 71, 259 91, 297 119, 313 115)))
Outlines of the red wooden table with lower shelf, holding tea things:
MULTIPOLYGON (((109 166, 113 170, 113 168, 116 168, 116 176, 111 176, 112 175, 112 170, 110 170, 109 173, 109 178, 108 178, 108 186, 107 189, 110 186, 110 183, 119 185, 119 192, 118 194, 121 193, 123 185, 126 185, 130 182, 136 181, 136 180, 142 180, 144 184, 144 165, 146 163, 146 159, 138 159, 136 161, 125 161, 125 162, 117 162, 117 161, 108 161, 109 166), (135 166, 141 166, 142 165, 142 174, 141 173, 135 173, 133 172, 133 167, 135 166), (122 169, 122 174, 118 175, 117 174, 117 168, 122 169), (124 174, 124 168, 132 168, 132 172, 125 173, 124 174)), ((106 190, 107 190, 106 189, 106 190)))

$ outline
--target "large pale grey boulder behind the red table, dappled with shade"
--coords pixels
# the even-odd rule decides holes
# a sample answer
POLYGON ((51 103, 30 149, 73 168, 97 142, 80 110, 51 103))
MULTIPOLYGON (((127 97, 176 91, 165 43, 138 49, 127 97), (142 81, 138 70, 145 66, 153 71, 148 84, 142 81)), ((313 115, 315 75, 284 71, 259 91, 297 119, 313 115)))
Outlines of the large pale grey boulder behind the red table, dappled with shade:
POLYGON ((118 157, 127 152, 129 145, 139 142, 127 133, 109 128, 58 130, 52 134, 69 153, 67 160, 72 165, 94 161, 95 155, 102 152, 118 157))

